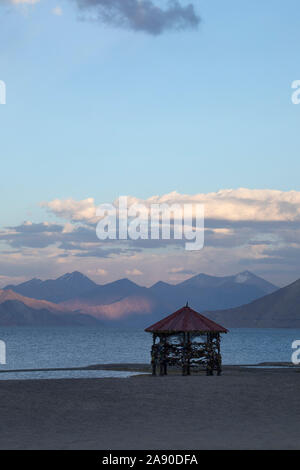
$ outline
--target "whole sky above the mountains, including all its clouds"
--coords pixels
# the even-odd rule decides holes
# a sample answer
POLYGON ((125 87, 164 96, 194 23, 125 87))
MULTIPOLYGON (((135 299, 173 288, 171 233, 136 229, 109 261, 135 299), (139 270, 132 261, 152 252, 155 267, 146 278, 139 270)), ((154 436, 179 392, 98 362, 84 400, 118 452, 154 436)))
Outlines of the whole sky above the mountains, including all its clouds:
POLYGON ((0 0, 0 287, 299 278, 299 16, 298 0, 0 0), (101 244, 95 208, 121 195, 204 203, 204 248, 101 244))

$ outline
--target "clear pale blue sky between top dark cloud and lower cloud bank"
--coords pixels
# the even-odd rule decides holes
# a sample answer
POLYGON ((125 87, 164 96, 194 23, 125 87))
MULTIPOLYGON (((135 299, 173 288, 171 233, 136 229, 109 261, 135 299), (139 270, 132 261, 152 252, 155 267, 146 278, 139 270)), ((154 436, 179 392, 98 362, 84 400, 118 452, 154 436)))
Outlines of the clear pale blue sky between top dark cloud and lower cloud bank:
POLYGON ((53 199, 300 191, 299 1, 192 3, 198 30, 152 36, 1 1, 3 229, 57 220, 53 199))

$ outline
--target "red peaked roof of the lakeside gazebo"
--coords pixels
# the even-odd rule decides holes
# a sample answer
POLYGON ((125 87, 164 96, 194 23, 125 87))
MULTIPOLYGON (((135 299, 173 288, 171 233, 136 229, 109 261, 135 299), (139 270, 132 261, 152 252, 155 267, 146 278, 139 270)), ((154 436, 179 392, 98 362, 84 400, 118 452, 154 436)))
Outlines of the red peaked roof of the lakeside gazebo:
POLYGON ((170 333, 170 332, 215 332, 228 333, 228 330, 221 325, 200 315, 188 305, 172 313, 163 320, 146 328, 149 333, 170 333))

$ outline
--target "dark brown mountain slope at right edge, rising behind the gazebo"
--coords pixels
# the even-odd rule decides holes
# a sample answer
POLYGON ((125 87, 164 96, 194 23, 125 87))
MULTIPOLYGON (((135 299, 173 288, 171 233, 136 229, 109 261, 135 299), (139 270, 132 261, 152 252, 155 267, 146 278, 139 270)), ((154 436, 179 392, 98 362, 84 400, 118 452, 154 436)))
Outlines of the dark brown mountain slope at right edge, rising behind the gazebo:
POLYGON ((229 328, 300 328, 300 279, 247 305, 205 315, 229 328))

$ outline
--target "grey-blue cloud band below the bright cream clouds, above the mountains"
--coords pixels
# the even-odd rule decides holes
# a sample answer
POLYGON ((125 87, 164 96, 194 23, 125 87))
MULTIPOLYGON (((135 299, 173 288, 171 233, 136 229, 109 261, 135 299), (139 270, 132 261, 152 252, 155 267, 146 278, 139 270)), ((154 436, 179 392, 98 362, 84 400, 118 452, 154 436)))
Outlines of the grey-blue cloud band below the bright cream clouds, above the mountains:
MULTIPOLYGON (((157 252, 164 250, 164 255, 169 251, 169 253, 172 252, 171 256, 174 256, 176 251, 184 252, 185 239, 100 241, 95 229, 96 225, 92 224, 50 223, 25 223, 9 227, 0 230, 0 242, 4 243, 4 251, 2 250, 1 254, 3 256, 19 254, 23 256, 24 261, 25 257, 30 255, 30 249, 42 250, 51 246, 56 247, 57 257, 73 257, 77 260, 124 258, 137 253, 146 254, 150 250, 157 252), (7 251, 7 246, 12 251, 7 251)), ((288 268, 289 271, 295 272, 294 277, 296 277, 300 262, 299 240, 299 222, 223 221, 222 224, 220 221, 208 219, 203 256, 209 257, 215 252, 218 258, 223 253, 226 259, 228 260, 229 256, 232 262, 239 259, 243 269, 248 267, 248 269, 255 270, 262 266, 266 270, 271 267, 273 271, 276 267, 281 272, 283 268, 288 268)), ((43 260, 42 251, 34 256, 37 263, 39 259, 43 260)), ((15 264, 14 257, 11 258, 12 263, 15 264)), ((182 270, 177 274, 194 274, 194 272, 182 270)))

